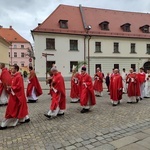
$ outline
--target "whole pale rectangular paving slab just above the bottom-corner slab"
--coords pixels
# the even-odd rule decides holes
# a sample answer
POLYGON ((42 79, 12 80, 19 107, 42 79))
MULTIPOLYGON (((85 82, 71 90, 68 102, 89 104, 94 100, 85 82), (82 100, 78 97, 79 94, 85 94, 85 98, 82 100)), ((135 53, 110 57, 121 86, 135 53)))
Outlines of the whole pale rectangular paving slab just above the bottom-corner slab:
POLYGON ((127 136, 127 137, 121 138, 119 140, 112 141, 112 142, 110 142, 110 144, 112 144, 116 148, 121 148, 123 146, 126 146, 126 145, 131 144, 136 141, 138 141, 137 138, 132 137, 132 136, 127 136))

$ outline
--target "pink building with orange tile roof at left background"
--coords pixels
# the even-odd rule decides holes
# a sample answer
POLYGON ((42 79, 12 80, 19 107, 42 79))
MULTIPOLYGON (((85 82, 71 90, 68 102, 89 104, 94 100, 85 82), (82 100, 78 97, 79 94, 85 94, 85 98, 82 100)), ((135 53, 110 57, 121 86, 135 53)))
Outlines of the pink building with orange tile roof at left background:
POLYGON ((3 28, 0 26, 0 36, 3 37, 9 46, 9 64, 18 64, 19 66, 29 66, 28 51, 32 51, 32 46, 29 41, 17 33, 12 26, 3 28))

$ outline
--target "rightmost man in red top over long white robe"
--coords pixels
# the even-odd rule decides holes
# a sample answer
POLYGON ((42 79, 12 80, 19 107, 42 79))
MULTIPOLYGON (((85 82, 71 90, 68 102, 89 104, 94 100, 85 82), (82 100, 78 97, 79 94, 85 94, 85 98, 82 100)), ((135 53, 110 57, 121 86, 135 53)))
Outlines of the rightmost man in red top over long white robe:
POLYGON ((144 72, 144 68, 140 68, 140 73, 138 73, 138 79, 139 79, 139 84, 140 84, 140 100, 142 100, 145 97, 145 79, 146 79, 146 74, 144 72))

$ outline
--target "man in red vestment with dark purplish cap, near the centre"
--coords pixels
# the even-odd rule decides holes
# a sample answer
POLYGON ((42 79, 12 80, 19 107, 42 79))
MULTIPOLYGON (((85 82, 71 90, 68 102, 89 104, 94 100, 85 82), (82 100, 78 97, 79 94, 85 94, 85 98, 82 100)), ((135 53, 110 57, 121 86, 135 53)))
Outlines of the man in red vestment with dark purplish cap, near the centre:
POLYGON ((86 67, 81 68, 80 80, 80 105, 83 107, 81 113, 89 112, 90 108, 96 104, 92 78, 86 73, 86 67))

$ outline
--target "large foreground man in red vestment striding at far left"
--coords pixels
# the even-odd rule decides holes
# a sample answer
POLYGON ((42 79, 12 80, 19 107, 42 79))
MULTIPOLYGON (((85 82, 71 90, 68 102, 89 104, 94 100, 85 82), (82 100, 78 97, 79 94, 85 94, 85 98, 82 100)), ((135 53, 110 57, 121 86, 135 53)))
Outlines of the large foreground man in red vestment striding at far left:
POLYGON ((0 130, 6 129, 9 126, 16 126, 18 122, 25 123, 30 121, 23 78, 18 71, 19 66, 14 65, 12 67, 11 86, 7 86, 7 89, 10 92, 9 101, 0 130))

